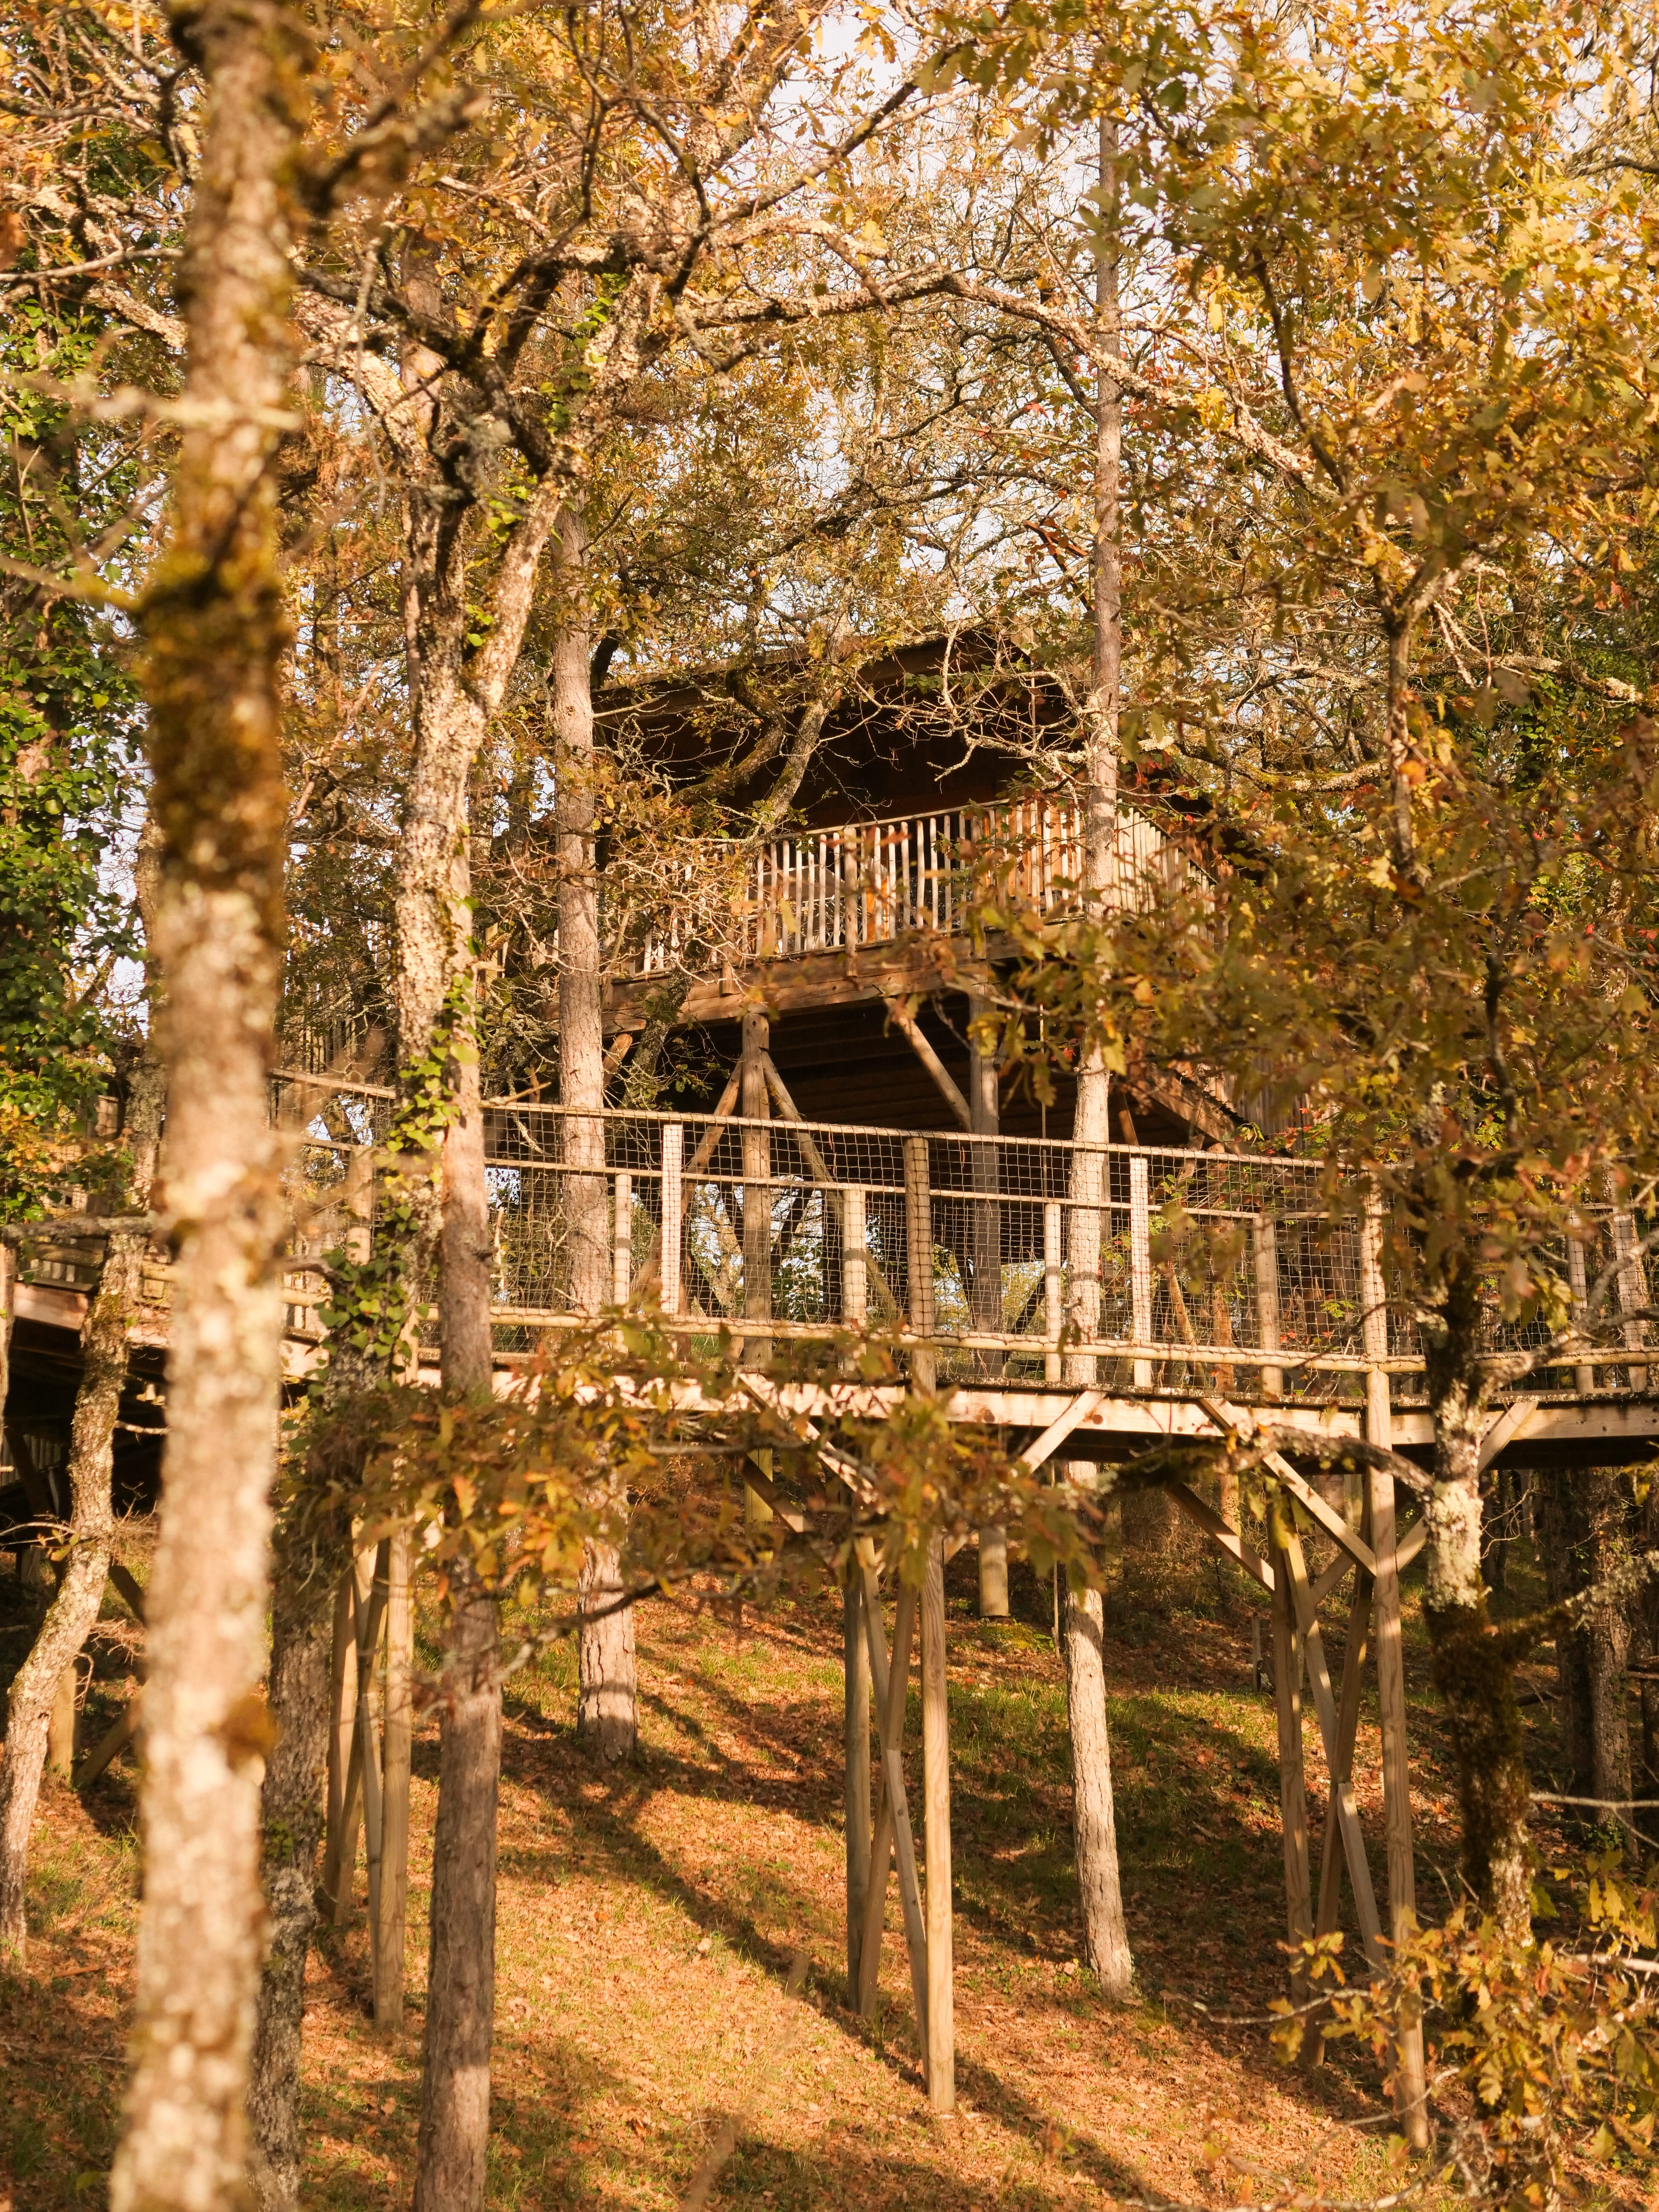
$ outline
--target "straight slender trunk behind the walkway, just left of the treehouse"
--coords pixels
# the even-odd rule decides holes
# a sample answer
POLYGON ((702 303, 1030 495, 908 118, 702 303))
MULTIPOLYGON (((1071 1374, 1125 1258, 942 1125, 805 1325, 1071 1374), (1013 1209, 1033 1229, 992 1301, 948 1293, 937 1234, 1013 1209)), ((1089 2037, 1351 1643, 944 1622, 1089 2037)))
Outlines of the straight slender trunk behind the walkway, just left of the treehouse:
MULTIPOLYGON (((571 1310, 597 1314, 608 1296, 611 1252, 604 1203, 604 1009, 599 971, 599 878, 593 852, 593 639, 582 613, 586 531, 560 518, 564 606, 553 639, 553 807, 560 860, 560 1104, 564 1157, 591 1175, 564 1177, 571 1239, 571 1310), (591 1119, 588 1119, 591 1117, 591 1119)), ((606 1765, 635 1756, 639 1741, 633 1606, 617 1606, 622 1568, 613 1544, 588 1544, 577 1601, 577 1734, 606 1765), (597 1615, 597 1617, 595 1617, 597 1615)))

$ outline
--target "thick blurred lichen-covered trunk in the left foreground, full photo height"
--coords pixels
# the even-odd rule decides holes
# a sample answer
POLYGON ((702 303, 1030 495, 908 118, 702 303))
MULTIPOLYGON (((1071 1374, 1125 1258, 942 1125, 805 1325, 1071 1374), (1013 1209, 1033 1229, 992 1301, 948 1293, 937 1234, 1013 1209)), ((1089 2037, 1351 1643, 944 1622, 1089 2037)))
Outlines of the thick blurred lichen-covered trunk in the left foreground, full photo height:
POLYGON ((146 602, 155 953, 168 1004, 175 1250, 161 1540, 148 1586, 137 2062, 113 2212, 208 2212, 246 2190, 263 1905, 259 1783, 276 1464, 281 1183, 265 1104, 281 973, 288 615, 272 449, 288 403, 288 208, 310 42, 296 9, 170 11, 208 77, 186 232, 188 414, 146 602))

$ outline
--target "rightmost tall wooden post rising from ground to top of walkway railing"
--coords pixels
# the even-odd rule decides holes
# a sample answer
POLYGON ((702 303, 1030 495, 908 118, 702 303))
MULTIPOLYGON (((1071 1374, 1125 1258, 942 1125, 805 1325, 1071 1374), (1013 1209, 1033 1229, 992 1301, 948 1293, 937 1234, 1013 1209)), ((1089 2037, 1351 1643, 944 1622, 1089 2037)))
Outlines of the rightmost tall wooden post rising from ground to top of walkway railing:
MULTIPOLYGON (((1360 1312, 1365 1352, 1387 1358, 1389 1316, 1383 1281, 1383 1206, 1371 1199, 1360 1230, 1360 1312)), ((1365 1376, 1365 1438, 1394 1449, 1389 1378, 1383 1367, 1365 1376)), ((1411 1765, 1405 1741, 1405 1659, 1400 1650, 1400 1571, 1394 1542, 1394 1475, 1369 1469, 1371 1555, 1376 1559, 1376 1710, 1383 1730, 1383 1823, 1389 1851, 1389 1938, 1402 1944, 1416 1927, 1418 1896, 1411 1865, 1411 1765)), ((1394 2046, 1394 2110, 1413 2150, 1427 2148, 1429 2112, 1422 2068, 1422 2022, 1400 2020, 1394 2046)))

